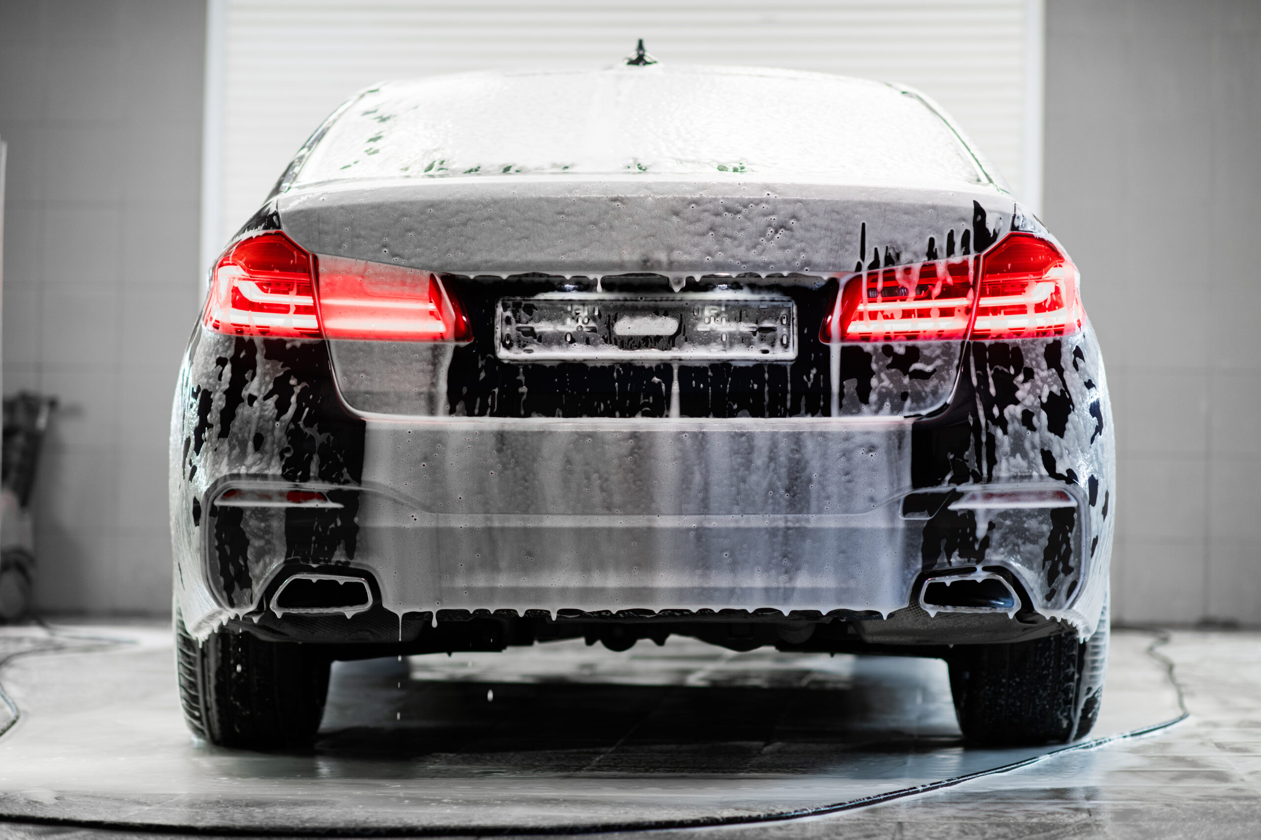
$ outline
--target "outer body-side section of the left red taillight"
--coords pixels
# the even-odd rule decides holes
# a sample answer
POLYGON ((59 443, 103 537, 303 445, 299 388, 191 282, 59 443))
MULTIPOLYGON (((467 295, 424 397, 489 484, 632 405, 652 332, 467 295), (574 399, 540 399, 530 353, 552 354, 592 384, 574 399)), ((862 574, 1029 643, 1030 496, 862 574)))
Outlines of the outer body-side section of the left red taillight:
POLYGON ((319 338, 311 256, 279 230, 236 243, 214 267, 204 322, 227 335, 319 338))

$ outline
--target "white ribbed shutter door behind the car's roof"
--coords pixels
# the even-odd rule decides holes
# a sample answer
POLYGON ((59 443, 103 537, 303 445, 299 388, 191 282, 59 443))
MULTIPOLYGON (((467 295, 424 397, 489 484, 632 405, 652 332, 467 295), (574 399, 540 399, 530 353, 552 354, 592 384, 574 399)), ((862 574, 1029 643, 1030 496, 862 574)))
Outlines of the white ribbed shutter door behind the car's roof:
POLYGON ((1025 112, 1026 82, 1040 81, 1037 69, 1026 73, 1026 19, 1038 26, 1039 9, 1039 0, 226 0, 223 164, 211 174, 222 199, 212 238, 222 243, 257 209, 303 140, 361 87, 477 69, 603 67, 637 38, 663 62, 918 87, 1021 194, 1026 126, 1040 125, 1025 112))

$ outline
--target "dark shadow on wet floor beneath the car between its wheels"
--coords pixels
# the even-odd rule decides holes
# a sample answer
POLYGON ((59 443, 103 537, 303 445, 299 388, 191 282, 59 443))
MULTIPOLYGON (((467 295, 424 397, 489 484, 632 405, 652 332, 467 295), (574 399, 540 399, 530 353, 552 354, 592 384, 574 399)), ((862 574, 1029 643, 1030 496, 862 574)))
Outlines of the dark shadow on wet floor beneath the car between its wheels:
POLYGON ((406 660, 343 662, 315 753, 433 764, 444 776, 694 776, 811 773, 957 747, 942 674, 921 660, 880 659, 871 667, 857 659, 846 679, 831 680, 754 662, 709 674, 705 685, 677 675, 652 678, 642 670, 617 681, 581 669, 530 681, 414 679, 406 660))

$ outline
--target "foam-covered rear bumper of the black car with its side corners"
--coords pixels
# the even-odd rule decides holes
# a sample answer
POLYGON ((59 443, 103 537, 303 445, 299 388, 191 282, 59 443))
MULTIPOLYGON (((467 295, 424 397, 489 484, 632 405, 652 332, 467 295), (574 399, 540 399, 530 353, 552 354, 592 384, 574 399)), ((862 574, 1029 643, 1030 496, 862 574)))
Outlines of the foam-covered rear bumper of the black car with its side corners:
POLYGON ((198 636, 270 612, 296 567, 369 577, 400 632, 444 611, 875 618, 909 607, 926 573, 999 569, 1084 636, 1115 513, 1088 330, 968 344, 931 417, 784 419, 357 416, 323 343, 202 334, 170 480, 177 606, 198 636), (219 504, 251 487, 328 504, 219 504), (960 504, 976 490, 1067 504, 960 504))

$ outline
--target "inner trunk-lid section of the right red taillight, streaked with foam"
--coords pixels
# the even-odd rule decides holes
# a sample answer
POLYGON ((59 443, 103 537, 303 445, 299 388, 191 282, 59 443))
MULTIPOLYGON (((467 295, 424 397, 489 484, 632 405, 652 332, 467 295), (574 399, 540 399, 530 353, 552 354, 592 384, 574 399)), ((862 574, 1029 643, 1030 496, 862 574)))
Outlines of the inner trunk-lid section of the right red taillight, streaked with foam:
POLYGON ((944 341, 967 335, 972 261, 937 259, 873 268, 845 281, 823 320, 832 341, 944 341))

